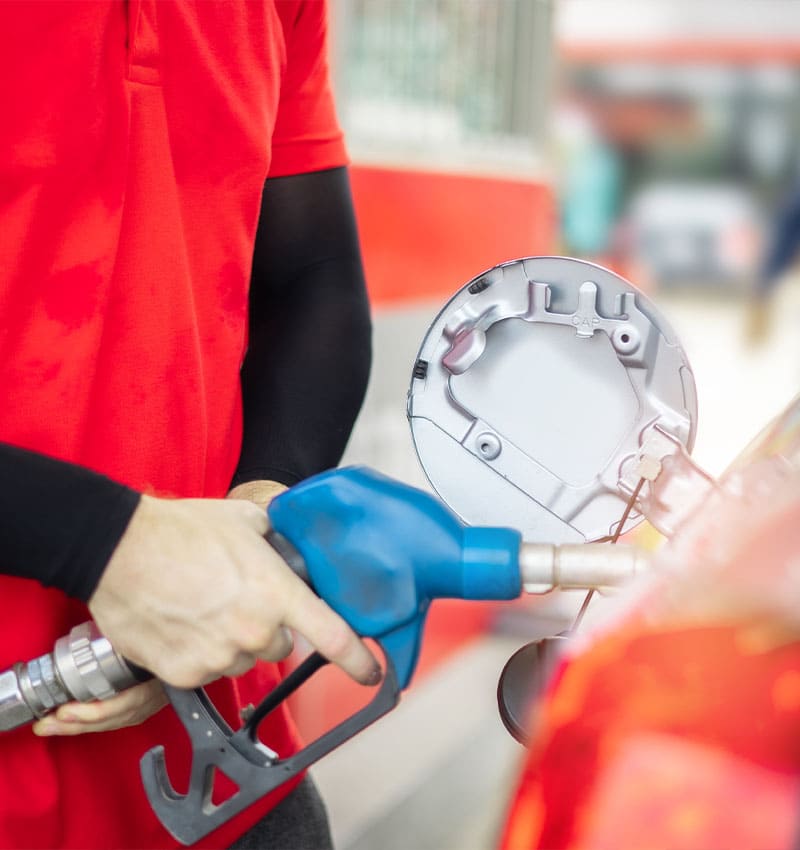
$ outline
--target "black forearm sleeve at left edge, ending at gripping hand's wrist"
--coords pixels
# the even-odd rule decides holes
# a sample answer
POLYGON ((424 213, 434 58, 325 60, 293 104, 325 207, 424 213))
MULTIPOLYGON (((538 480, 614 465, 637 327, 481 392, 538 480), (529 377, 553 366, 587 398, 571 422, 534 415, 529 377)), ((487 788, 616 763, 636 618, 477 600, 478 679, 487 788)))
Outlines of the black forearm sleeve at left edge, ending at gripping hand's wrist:
POLYGON ((0 572, 88 601, 139 498, 83 467, 0 443, 0 572))

